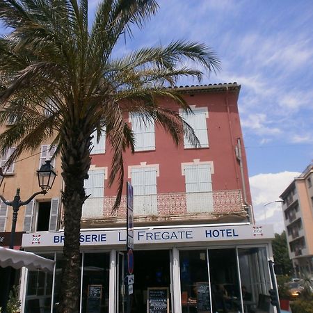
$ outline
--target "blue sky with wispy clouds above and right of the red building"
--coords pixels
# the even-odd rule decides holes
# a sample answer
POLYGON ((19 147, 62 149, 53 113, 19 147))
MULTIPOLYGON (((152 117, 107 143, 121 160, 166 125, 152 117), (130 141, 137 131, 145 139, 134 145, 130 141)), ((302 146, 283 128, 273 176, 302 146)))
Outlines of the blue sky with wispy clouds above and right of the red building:
MULTIPOLYGON (((97 2, 89 1, 90 13, 97 2)), ((277 199, 313 159, 313 1, 161 0, 159 6, 116 52, 177 39, 216 51, 222 70, 205 75, 202 83, 241 84, 255 217, 257 223, 275 223, 280 232, 280 204, 263 204, 277 199)))

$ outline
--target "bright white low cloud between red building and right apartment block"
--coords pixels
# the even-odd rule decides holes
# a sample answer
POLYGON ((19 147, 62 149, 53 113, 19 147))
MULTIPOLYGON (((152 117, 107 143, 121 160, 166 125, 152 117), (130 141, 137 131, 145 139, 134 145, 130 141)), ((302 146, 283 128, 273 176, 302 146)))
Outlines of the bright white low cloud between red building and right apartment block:
POLYGON ((285 188, 300 172, 278 172, 258 174, 250 177, 253 211, 257 224, 273 224, 275 232, 284 230, 282 205, 272 202, 279 199, 285 188), (268 203, 266 206, 264 204, 268 203))

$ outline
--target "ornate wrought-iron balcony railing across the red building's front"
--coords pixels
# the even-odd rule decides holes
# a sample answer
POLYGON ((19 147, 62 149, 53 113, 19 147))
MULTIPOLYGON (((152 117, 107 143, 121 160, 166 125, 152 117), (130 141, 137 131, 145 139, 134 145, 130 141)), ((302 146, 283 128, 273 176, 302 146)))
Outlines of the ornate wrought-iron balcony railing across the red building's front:
MULTIPOLYGON (((82 218, 126 216, 126 196, 120 207, 112 211, 115 196, 88 198, 83 204, 82 218)), ((171 216, 192 213, 236 213, 243 211, 240 190, 206 193, 158 193, 134 196, 134 216, 171 216)))

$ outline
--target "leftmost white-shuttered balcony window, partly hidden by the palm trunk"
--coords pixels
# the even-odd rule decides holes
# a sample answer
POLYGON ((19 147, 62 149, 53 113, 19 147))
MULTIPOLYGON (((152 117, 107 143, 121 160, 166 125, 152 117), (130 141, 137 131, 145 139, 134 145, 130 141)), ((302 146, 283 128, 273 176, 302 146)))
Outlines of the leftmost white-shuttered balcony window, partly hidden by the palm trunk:
POLYGON ((104 179, 105 170, 89 170, 88 179, 84 186, 86 195, 90 197, 83 204, 83 218, 99 218, 103 216, 104 209, 104 179))

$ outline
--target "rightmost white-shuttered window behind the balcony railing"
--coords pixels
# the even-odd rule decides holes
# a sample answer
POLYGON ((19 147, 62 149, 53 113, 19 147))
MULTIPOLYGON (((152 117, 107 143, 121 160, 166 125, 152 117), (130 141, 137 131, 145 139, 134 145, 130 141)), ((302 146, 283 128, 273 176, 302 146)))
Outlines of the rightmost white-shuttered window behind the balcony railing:
POLYGON ((184 165, 188 212, 213 211, 211 162, 184 165))

